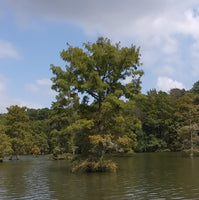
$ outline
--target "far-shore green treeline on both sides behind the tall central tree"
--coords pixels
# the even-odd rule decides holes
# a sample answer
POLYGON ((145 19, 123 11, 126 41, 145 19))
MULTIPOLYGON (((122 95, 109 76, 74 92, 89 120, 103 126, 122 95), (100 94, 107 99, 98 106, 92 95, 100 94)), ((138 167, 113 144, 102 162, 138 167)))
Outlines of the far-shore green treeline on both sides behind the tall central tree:
MULTIPOLYGON (((136 137, 131 141, 134 144, 128 147, 125 137, 120 137, 118 142, 123 147, 120 151, 124 152, 125 148, 126 152, 130 149, 136 152, 180 151, 191 148, 191 136, 194 147, 199 145, 199 81, 190 91, 175 88, 165 93, 154 89, 135 99, 135 105, 128 108, 132 115, 129 123, 135 129, 136 137)), ((0 157, 81 152, 89 142, 80 134, 73 144, 75 136, 68 130, 77 115, 73 109, 9 107, 6 114, 0 115, 0 157)), ((73 124, 76 126, 73 128, 82 128, 78 127, 83 126, 84 122, 81 123, 73 124)))

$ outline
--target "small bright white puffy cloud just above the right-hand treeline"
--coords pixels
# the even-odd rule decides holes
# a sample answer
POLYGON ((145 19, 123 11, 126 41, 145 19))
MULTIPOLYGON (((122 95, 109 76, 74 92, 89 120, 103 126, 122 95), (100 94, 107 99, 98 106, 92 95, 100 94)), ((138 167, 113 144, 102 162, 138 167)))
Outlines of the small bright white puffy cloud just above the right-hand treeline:
POLYGON ((183 89, 185 88, 181 82, 172 80, 168 77, 158 77, 156 89, 159 91, 169 92, 173 88, 183 89))

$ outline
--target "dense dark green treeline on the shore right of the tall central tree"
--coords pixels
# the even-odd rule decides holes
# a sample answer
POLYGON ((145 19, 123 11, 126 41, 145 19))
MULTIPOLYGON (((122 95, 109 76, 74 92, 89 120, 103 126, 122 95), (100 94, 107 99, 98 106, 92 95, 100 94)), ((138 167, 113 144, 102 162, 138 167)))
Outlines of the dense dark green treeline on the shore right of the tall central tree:
POLYGON ((138 96, 135 114, 142 122, 137 132, 138 152, 181 151, 199 145, 199 82, 190 91, 169 94, 150 90, 138 96))

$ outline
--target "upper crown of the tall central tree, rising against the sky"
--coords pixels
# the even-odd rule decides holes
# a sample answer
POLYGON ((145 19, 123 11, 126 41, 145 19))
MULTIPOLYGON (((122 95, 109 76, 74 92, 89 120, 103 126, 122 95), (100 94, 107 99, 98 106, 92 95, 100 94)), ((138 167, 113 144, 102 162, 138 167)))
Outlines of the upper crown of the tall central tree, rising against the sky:
POLYGON ((85 51, 67 45, 68 49, 61 52, 62 59, 67 62, 66 71, 51 65, 56 75, 52 78, 52 88, 59 92, 59 96, 73 97, 81 93, 83 99, 92 101, 92 97, 100 109, 106 96, 117 90, 121 91, 119 97, 126 98, 140 91, 143 71, 137 70, 140 66, 139 48, 120 48, 119 43, 111 45, 110 40, 104 38, 98 38, 96 43, 85 43, 85 51), (122 81, 129 77, 132 81, 124 85, 122 81))

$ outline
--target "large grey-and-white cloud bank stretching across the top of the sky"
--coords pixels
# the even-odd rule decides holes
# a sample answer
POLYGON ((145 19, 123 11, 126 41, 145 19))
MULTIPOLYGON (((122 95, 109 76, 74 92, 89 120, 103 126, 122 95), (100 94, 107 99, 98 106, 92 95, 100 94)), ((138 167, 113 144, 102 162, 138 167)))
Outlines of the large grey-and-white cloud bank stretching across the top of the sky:
POLYGON ((181 51, 178 34, 199 40, 198 0, 18 0, 17 4, 7 0, 2 10, 5 8, 15 15, 18 24, 32 26, 38 19, 65 21, 86 33, 106 35, 128 45, 136 41, 143 56, 155 52, 156 57, 151 57, 154 62, 159 57, 162 62, 168 56, 176 59, 172 54, 181 51))

